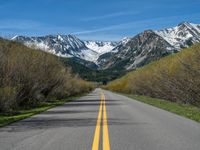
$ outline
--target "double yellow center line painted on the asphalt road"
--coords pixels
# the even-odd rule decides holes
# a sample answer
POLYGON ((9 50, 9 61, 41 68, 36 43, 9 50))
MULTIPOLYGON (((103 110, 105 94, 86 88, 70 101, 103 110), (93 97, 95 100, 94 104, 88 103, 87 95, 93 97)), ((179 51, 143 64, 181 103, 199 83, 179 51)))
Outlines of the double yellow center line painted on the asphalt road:
POLYGON ((110 150, 108 123, 107 123, 107 114, 106 114, 106 102, 105 102, 105 96, 103 93, 101 93, 99 114, 98 114, 98 118, 97 118, 97 124, 96 124, 96 129, 95 129, 95 134, 94 134, 92 150, 99 149, 101 120, 103 120, 103 140, 102 140, 103 150, 110 150), (102 115, 102 113, 103 113, 103 115, 102 115))

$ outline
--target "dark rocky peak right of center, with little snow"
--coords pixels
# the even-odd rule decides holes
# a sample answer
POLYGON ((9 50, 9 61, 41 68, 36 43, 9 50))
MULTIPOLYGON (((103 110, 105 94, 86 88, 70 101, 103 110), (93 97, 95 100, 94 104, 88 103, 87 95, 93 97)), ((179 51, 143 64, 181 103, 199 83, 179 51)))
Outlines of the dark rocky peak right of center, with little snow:
POLYGON ((152 30, 146 30, 126 42, 121 42, 113 50, 116 53, 111 51, 98 58, 101 69, 131 70, 176 51, 152 30))

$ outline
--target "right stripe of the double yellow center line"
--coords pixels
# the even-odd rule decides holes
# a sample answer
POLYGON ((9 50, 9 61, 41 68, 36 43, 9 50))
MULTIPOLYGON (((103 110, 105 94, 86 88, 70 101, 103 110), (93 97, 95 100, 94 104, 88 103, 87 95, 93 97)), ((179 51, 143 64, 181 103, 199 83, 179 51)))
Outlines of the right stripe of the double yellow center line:
POLYGON ((103 150, 110 150, 108 122, 106 114, 106 101, 103 93, 102 93, 102 99, 103 99, 103 150))

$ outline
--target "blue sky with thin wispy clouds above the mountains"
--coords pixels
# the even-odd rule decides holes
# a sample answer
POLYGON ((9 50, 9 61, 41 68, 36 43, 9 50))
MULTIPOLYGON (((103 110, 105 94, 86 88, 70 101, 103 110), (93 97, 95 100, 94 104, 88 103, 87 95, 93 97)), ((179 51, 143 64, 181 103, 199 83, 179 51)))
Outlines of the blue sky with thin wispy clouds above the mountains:
POLYGON ((118 41, 147 29, 200 24, 200 0, 0 0, 0 36, 74 34, 118 41))

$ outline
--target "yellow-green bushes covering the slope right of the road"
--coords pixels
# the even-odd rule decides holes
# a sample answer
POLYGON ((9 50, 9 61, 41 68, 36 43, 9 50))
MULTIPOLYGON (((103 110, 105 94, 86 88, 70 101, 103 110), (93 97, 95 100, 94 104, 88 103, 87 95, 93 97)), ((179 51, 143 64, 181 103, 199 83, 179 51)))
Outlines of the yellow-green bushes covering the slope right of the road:
POLYGON ((132 71, 106 88, 200 107, 200 44, 132 71))

